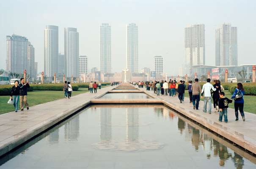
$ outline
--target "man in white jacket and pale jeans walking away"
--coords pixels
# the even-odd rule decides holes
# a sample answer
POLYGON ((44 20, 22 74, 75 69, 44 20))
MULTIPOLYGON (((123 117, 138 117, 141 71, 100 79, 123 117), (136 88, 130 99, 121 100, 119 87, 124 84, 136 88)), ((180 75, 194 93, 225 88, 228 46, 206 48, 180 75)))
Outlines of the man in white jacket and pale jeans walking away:
POLYGON ((209 114, 212 113, 212 93, 211 90, 215 91, 216 88, 213 87, 212 84, 210 84, 211 79, 206 79, 206 84, 203 85, 202 92, 201 92, 201 98, 203 98, 204 95, 204 112, 206 112, 207 103, 209 103, 208 112, 209 114))

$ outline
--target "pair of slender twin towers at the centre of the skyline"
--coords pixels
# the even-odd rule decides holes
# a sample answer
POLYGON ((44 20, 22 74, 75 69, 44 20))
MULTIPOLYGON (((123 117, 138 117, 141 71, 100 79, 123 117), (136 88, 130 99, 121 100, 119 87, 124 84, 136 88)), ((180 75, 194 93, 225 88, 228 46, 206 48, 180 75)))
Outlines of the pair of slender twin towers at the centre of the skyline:
MULTIPOLYGON (((126 27, 126 68, 138 73, 138 26, 134 23, 126 27)), ((111 26, 100 25, 100 71, 111 73, 111 26)))

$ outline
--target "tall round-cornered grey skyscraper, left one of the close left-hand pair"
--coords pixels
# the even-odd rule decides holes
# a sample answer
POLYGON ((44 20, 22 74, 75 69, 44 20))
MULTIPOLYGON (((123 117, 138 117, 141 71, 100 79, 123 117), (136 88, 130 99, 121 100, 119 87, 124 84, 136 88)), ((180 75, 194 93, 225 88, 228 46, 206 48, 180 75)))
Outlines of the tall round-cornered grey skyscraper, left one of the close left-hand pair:
POLYGON ((44 29, 44 75, 54 76, 58 71, 58 26, 47 25, 44 29))

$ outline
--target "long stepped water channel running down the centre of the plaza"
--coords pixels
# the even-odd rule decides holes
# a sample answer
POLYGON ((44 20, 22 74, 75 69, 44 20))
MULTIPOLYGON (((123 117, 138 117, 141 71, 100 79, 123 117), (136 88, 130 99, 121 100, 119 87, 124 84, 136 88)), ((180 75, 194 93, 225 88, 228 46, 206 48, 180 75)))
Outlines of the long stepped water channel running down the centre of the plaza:
POLYGON ((121 84, 0 158, 0 169, 255 169, 256 156, 121 84))

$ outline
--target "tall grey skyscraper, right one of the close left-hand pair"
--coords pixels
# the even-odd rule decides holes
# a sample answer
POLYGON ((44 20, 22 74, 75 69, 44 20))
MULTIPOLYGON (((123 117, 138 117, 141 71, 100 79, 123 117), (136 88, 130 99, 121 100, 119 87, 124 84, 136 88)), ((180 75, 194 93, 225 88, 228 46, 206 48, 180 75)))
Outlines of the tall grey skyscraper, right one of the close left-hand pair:
POLYGON ((79 33, 73 27, 65 28, 64 33, 65 74, 68 77, 79 77, 79 33))

